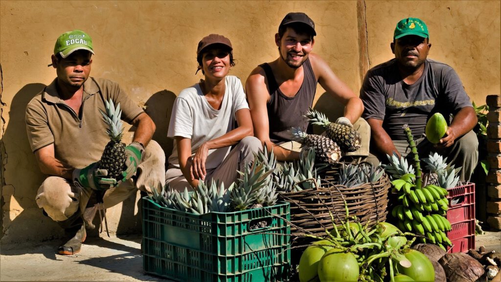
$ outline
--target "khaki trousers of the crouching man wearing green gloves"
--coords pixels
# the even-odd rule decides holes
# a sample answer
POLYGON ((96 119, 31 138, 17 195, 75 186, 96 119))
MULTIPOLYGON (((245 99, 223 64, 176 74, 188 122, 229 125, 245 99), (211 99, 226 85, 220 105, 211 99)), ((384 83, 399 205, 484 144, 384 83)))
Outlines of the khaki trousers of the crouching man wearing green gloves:
MULTIPOLYGON (((165 154, 157 142, 151 140, 145 148, 143 160, 137 167, 137 180, 122 182, 106 191, 104 208, 112 207, 137 192, 151 194, 151 189, 165 184, 165 154)), ((37 204, 55 221, 64 221, 78 210, 83 211, 92 194, 91 188, 79 188, 62 177, 49 176, 37 192, 37 204)))

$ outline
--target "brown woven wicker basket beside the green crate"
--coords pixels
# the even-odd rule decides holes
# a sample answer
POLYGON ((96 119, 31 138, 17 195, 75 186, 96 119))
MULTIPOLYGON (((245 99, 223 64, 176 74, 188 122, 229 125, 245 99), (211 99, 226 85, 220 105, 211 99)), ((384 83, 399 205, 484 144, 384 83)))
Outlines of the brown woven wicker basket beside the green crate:
POLYGON ((284 200, 291 203, 291 234, 301 236, 313 234, 326 235, 331 230, 334 216, 337 225, 346 216, 345 204, 350 216, 357 216, 362 224, 369 226, 385 221, 388 213, 388 194, 391 182, 386 174, 377 183, 365 183, 357 187, 332 184, 334 172, 324 174, 323 183, 318 189, 282 193, 284 200), (344 199, 344 201, 343 201, 344 199))

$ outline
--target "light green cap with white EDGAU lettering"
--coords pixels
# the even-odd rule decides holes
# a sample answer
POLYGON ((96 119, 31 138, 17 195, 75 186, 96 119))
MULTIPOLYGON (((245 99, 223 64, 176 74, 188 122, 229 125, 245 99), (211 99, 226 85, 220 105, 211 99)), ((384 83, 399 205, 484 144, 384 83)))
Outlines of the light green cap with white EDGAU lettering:
POLYGON ((60 54, 61 57, 66 58, 77 50, 87 50, 94 54, 91 37, 83 31, 74 30, 59 36, 54 46, 54 55, 60 54))

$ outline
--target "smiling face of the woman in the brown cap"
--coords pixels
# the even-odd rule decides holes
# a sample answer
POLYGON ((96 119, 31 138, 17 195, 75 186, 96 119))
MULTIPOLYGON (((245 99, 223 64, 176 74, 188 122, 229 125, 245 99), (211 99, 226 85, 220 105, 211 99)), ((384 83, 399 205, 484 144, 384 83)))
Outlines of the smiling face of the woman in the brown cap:
POLYGON ((205 79, 222 79, 228 75, 229 69, 232 66, 228 49, 218 46, 208 47, 206 50, 203 50, 201 61, 205 79))

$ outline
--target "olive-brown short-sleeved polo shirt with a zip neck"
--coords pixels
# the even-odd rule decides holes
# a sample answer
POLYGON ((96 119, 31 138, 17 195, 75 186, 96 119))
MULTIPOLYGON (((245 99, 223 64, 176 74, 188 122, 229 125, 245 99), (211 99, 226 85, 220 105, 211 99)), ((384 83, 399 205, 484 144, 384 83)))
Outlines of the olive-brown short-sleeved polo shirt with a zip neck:
POLYGON ((33 152, 54 144, 55 157, 64 164, 84 168, 101 159, 110 141, 99 110, 111 98, 120 103, 122 120, 132 121, 143 110, 115 82, 89 77, 84 83, 80 116, 59 96, 57 78, 35 96, 26 108, 26 129, 33 152))

